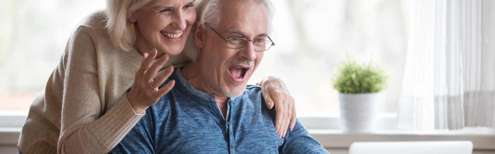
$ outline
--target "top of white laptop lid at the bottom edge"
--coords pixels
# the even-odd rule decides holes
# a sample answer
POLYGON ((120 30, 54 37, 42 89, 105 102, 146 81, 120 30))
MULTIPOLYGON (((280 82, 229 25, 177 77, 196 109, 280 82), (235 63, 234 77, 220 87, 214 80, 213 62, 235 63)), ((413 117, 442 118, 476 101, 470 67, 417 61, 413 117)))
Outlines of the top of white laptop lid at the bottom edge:
POLYGON ((471 141, 354 142, 349 154, 472 154, 471 141))

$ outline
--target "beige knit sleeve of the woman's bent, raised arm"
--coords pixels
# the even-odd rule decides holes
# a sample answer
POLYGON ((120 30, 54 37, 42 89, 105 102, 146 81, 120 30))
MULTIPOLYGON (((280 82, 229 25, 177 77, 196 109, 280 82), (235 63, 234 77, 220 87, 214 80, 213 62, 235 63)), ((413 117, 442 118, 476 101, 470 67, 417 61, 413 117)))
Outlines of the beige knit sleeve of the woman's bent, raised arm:
POLYGON ((59 154, 106 154, 143 115, 122 96, 106 113, 98 80, 97 49, 90 28, 80 26, 65 49, 59 154), (103 115, 104 113, 104 115, 103 115))

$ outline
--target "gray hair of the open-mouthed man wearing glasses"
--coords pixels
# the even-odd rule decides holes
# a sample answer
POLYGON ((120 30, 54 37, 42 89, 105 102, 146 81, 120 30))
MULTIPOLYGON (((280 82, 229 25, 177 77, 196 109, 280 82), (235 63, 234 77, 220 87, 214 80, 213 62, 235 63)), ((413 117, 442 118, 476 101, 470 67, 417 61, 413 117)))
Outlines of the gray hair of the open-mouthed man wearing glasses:
MULTIPOLYGON (((263 4, 266 9, 267 21, 268 21, 268 34, 271 32, 272 27, 272 17, 274 13, 274 7, 271 0, 237 0, 240 2, 250 2, 255 1, 263 4)), ((191 29, 191 33, 188 36, 186 41, 186 46, 184 47, 184 51, 186 55, 193 61, 198 60, 199 55, 199 47, 194 42, 194 31, 196 28, 209 28, 209 27, 217 27, 220 22, 220 16, 222 12, 220 11, 220 7, 222 6, 222 0, 198 0, 196 3, 196 20, 198 21, 198 26, 193 26, 191 29), (206 26, 207 24, 207 26, 206 26), (209 27, 208 27, 209 26, 209 27)), ((246 14, 249 15, 249 14, 246 14)))

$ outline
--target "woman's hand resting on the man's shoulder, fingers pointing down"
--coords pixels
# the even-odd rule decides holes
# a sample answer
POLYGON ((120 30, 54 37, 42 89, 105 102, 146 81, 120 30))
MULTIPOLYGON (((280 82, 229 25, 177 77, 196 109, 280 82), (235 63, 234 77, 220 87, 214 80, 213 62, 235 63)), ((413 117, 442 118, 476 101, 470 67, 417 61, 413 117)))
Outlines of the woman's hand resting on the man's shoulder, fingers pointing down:
POLYGON ((284 81, 278 77, 265 77, 257 85, 261 86, 261 94, 268 109, 272 109, 275 106, 277 113, 275 116, 275 128, 277 128, 279 138, 285 137, 289 124, 291 131, 296 125, 294 98, 289 93, 284 81))

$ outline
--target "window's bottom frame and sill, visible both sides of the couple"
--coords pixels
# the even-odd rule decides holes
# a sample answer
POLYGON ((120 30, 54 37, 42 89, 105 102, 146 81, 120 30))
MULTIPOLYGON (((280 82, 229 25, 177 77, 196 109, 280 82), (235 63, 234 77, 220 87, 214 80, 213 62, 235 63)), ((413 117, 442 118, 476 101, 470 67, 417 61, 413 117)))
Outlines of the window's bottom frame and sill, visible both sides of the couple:
MULTIPOLYGON (((4 118, 4 119, 2 119, 4 118)), ((15 146, 26 116, 15 115, 0 126, 0 146, 15 146)), ((353 142, 378 141, 459 141, 473 142, 475 150, 495 150, 495 129, 465 128, 462 130, 406 131, 395 129, 396 117, 382 115, 375 133, 344 133, 337 116, 298 116, 309 134, 327 149, 347 149, 353 142)))

